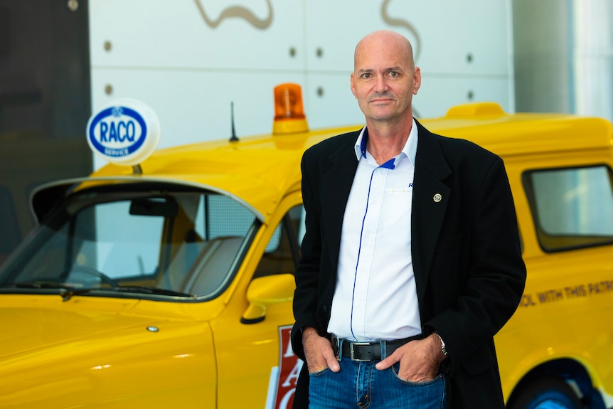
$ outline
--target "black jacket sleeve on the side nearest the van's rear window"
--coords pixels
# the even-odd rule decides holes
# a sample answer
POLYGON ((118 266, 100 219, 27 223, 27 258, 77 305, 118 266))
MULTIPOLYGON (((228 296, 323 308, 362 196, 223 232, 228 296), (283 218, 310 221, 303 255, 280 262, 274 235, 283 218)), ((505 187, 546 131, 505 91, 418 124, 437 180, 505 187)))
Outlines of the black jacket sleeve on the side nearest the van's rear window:
POLYGON ((526 282, 513 196, 503 161, 478 188, 469 235, 467 280, 454 307, 425 326, 444 340, 452 371, 487 343, 515 312, 526 282))

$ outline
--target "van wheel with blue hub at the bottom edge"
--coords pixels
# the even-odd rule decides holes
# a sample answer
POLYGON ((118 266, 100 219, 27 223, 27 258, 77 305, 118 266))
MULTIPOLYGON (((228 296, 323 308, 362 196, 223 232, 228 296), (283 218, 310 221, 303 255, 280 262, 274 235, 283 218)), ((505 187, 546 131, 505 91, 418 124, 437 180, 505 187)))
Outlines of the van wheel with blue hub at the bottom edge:
POLYGON ((572 388, 560 378, 538 378, 511 399, 508 409, 582 409, 572 388))

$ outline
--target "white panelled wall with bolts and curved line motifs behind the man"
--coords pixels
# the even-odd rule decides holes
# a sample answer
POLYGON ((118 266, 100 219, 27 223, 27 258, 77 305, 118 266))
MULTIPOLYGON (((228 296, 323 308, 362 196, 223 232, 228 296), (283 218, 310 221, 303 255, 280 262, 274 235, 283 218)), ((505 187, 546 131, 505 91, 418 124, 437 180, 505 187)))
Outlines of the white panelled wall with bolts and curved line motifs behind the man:
POLYGON ((413 43, 416 115, 469 101, 512 110, 508 1, 91 0, 92 111, 143 100, 161 119, 160 147, 230 137, 231 101, 239 137, 269 133, 272 89, 293 82, 311 129, 359 124, 353 48, 379 28, 413 43))

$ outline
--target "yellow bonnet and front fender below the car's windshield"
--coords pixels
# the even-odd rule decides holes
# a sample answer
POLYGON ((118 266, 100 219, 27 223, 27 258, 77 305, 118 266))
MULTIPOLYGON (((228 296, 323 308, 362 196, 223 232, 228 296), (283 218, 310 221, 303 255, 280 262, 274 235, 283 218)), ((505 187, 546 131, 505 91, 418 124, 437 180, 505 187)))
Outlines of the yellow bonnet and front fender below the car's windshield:
POLYGON ((0 407, 157 407, 215 396, 207 321, 160 315, 134 299, 3 295, 1 301, 1 321, 13 336, 0 344, 0 407))

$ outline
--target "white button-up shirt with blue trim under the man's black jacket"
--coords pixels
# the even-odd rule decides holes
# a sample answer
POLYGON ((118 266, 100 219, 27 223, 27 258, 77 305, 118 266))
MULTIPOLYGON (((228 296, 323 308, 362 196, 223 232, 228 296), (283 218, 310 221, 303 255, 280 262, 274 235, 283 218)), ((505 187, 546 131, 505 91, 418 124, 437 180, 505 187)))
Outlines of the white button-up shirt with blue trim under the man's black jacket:
POLYGON ((411 199, 417 126, 402 152, 378 165, 356 141, 358 169, 347 201, 328 331, 353 341, 421 334, 411 257, 411 199))

